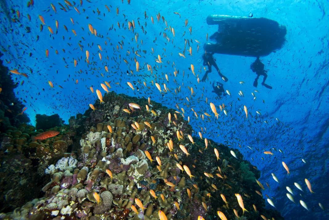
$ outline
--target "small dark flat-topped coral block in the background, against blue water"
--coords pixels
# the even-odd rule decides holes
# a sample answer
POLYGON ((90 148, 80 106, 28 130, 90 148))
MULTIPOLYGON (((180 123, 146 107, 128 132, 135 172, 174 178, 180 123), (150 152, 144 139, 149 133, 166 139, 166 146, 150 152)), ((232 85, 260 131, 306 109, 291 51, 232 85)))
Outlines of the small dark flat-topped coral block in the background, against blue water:
POLYGON ((53 127, 61 127, 64 120, 58 114, 54 115, 36 115, 36 129, 48 130, 53 127))

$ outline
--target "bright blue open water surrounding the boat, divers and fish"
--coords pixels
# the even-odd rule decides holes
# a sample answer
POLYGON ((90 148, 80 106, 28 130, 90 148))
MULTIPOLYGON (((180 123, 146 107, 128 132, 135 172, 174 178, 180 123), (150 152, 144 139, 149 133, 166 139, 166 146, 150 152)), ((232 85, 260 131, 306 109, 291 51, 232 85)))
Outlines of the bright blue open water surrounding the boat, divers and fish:
MULTIPOLYGON (((28 75, 28 78, 25 78, 13 74, 13 79, 18 83, 24 80, 24 84, 18 86, 15 93, 22 101, 26 101, 26 113, 32 123, 37 113, 58 113, 68 122, 70 116, 83 113, 89 108, 89 103, 96 100, 96 94, 91 93, 89 87, 92 86, 94 91, 99 89, 104 92, 100 86, 104 81, 108 81, 112 86, 110 91, 116 93, 150 97, 151 100, 170 108, 176 108, 178 103, 179 108, 184 108, 185 117, 190 116, 190 124, 196 132, 194 135, 197 135, 201 127, 204 131, 206 129, 203 136, 239 149, 245 159, 261 170, 259 180, 265 186, 263 195, 272 197, 276 209, 286 219, 329 219, 327 1, 131 0, 130 5, 126 0, 82 2, 82 6, 79 1, 75 3, 80 14, 73 7, 64 12, 55 1, 53 4, 57 10, 56 14, 47 1, 35 1, 31 7, 27 7, 26 1, 0 2, 0 42, 4 53, 1 59, 9 69, 18 69, 28 75), (110 12, 105 4, 110 8, 110 12), (116 8, 119 10, 118 15, 116 8), (16 10, 20 12, 19 19, 16 10), (174 12, 178 12, 181 17, 174 12), (170 25, 174 28, 175 37, 168 29, 165 30, 162 18, 158 22, 158 13, 164 16, 168 27, 170 25), (255 58, 221 54, 214 56, 221 72, 229 81, 220 79, 213 68, 213 72, 209 74, 210 81, 198 83, 196 76, 189 70, 190 64, 194 65, 195 73, 202 78, 205 72, 201 58, 204 53, 202 45, 207 42, 207 33, 210 36, 217 30, 216 25, 207 25, 206 17, 209 14, 248 16, 250 13, 253 13, 254 17, 275 20, 287 28, 287 41, 283 48, 261 57, 268 69, 266 83, 273 86, 273 89, 262 87, 261 77, 257 88, 259 93, 254 92, 252 84, 256 75, 250 70, 250 64, 255 58), (31 21, 27 18, 28 14, 31 21), (46 23, 42 32, 39 14, 46 23), (151 16, 154 18, 154 24, 151 22, 151 16), (16 18, 15 23, 12 18, 16 18), (187 27, 185 19, 188 19, 187 27), (55 20, 59 22, 58 32, 55 20), (128 21, 132 20, 136 26, 134 33, 128 30, 128 21), (117 22, 120 23, 120 28, 117 22), (90 34, 89 23, 97 30, 97 37, 90 34), (67 32, 63 25, 67 27, 67 32), (110 30, 112 25, 113 29, 110 30), (141 30, 141 25, 146 33, 141 30), (27 33, 27 26, 30 27, 31 33, 27 33), (54 34, 50 34, 48 26, 53 29, 54 34), (192 27, 191 34, 189 27, 192 27), (74 36, 72 29, 76 31, 77 36, 74 36), (182 37, 184 32, 185 36, 182 37), (136 33, 138 43, 135 41, 136 33), (166 33, 170 42, 163 37, 163 33, 166 33), (178 53, 183 53, 185 39, 191 39, 192 56, 186 51, 184 59, 178 53), (194 40, 200 42, 198 52, 198 43, 194 40), (123 49, 120 48, 119 42, 123 42, 123 49), (83 47, 82 50, 78 43, 83 47), (103 51, 99 51, 98 44, 103 51), (46 49, 49 50, 48 58, 45 55, 46 49), (56 49, 58 55, 55 53, 56 49), (86 50, 90 53, 90 65, 85 62, 86 50), (137 50, 141 57, 134 54, 137 50), (102 54, 102 61, 98 52, 102 54), (161 55, 162 64, 155 62, 158 54, 161 55), (139 72, 136 71, 134 57, 139 62, 139 72), (74 59, 77 60, 76 67, 74 59), (126 59, 128 64, 123 59, 126 59), (146 64, 152 66, 153 74, 147 71, 146 64), (109 72, 105 71, 104 66, 108 67, 109 72), (175 68, 179 70, 177 77, 174 76, 175 68), (168 75, 168 82, 165 74, 168 75), (54 84, 54 88, 48 85, 49 80, 54 84), (152 85, 152 80, 158 82, 162 88, 165 83, 169 92, 160 94, 155 85, 152 85), (212 93, 213 80, 222 82, 224 89, 229 90, 231 96, 218 99, 212 93), (149 88, 143 86, 144 81, 149 88), (244 81, 244 84, 241 85, 240 81, 244 81), (133 83, 136 90, 133 91, 127 82, 133 83), (181 92, 176 95, 175 89, 179 86, 181 92), (195 96, 190 96, 189 87, 193 88, 195 96), (240 90, 244 97, 238 95, 240 90), (252 92, 256 96, 255 100, 252 92), (208 103, 205 102, 206 97, 208 103), (204 112, 212 114, 210 102, 217 106, 218 112, 219 105, 224 103, 228 116, 220 112, 218 120, 213 117, 210 121, 207 117, 204 121, 200 117, 196 118, 191 108, 199 115, 204 112), (248 119, 245 119, 243 105, 246 105, 251 113, 248 119), (262 115, 258 115, 256 111, 260 111, 262 115), (279 152, 279 149, 283 153, 279 152), (274 155, 266 155, 264 150, 272 151, 274 155), (303 163, 302 159, 306 163, 303 163), (287 175, 282 161, 289 166, 291 175, 287 175), (271 173, 276 175, 280 183, 272 179, 271 173), (311 182, 315 194, 311 194, 307 189, 305 178, 311 182), (266 182, 270 189, 266 187, 266 182), (293 185, 294 182, 298 182, 304 192, 298 190, 293 185), (292 188, 296 204, 286 197, 286 186, 292 188), (309 211, 299 204, 300 199, 307 204, 309 211), (325 211, 320 209, 319 202, 325 211)), ((64 1, 60 3, 65 5, 64 1)), ((273 208, 267 202, 266 204, 273 208)))

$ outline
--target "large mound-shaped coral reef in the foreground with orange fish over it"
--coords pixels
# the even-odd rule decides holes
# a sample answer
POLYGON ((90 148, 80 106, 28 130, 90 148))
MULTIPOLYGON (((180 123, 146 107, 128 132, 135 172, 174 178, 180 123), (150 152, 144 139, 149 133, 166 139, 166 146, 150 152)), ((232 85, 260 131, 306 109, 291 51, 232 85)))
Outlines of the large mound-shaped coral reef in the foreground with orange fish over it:
MULTIPOLYGON (((30 143, 23 144, 22 149, 35 149, 34 154, 27 151, 27 155, 38 158, 39 173, 43 168, 43 175, 47 173, 50 178, 38 199, 13 212, 1 213, 2 219, 157 220, 159 210, 174 220, 195 220, 198 215, 215 219, 217 210, 235 219, 233 209, 242 216, 235 193, 243 198, 248 210, 244 213, 246 219, 261 219, 261 215, 283 219, 278 212, 265 208, 262 196, 256 193, 261 192, 255 181, 260 172, 243 161, 238 150, 211 140, 206 148, 204 139, 191 136, 191 140, 188 135, 193 130, 182 115, 159 103, 151 103, 153 112, 141 108, 130 109, 132 113, 128 114, 123 109, 129 109, 129 103, 145 106, 148 100, 115 93, 105 95, 103 100, 105 104, 96 101, 95 112, 87 110, 84 115, 71 117, 69 126, 56 128, 61 131, 59 136, 39 142, 27 138, 30 143), (67 137, 71 137, 70 144, 67 137), (59 140, 70 146, 60 148, 65 151, 60 155, 53 148, 59 140), (40 148, 42 151, 38 151, 40 148), (218 160, 214 148, 219 151, 218 160), (182 172, 178 165, 187 166, 193 176, 182 172), (225 195, 228 204, 220 194, 225 195), (138 208, 138 214, 131 205, 138 208)), ((6 138, 11 139, 10 135, 6 138)), ((9 149, 9 154, 16 155, 18 149, 13 149, 17 147, 9 149)))

